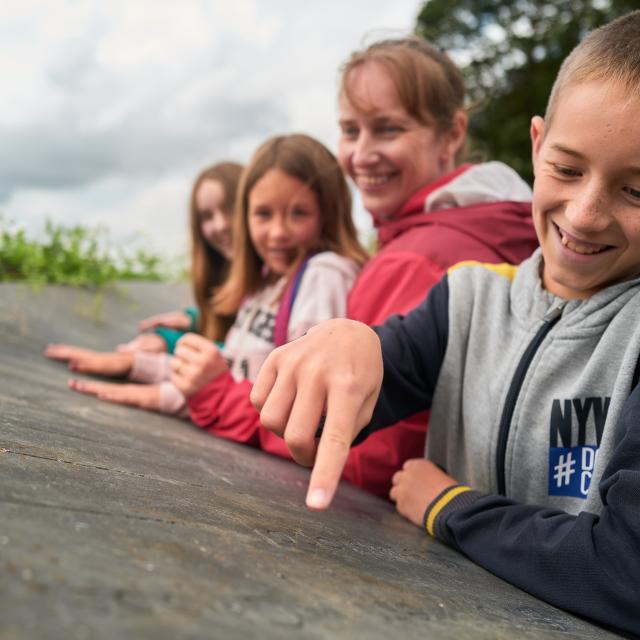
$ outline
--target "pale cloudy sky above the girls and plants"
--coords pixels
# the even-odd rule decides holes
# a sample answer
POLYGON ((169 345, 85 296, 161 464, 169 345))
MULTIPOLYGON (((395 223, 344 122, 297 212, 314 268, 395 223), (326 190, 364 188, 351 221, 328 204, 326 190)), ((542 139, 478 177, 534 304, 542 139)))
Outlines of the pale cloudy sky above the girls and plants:
MULTIPOLYGON (((3 0, 0 215, 186 252, 200 168, 276 133, 335 151, 337 69, 418 0, 3 0)), ((360 211, 358 224, 366 228, 360 211)))

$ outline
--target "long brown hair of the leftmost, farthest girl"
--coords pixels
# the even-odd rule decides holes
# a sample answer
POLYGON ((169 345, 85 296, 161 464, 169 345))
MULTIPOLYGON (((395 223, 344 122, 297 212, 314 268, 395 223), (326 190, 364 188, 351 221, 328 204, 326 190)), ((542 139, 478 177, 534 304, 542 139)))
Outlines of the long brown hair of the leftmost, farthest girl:
MULTIPOLYGON (((191 281, 193 297, 198 306, 198 331, 213 340, 224 339, 228 330, 226 322, 214 321, 209 301, 211 295, 226 279, 229 261, 214 249, 202 235, 201 216, 198 211, 196 194, 205 180, 215 180, 222 185, 224 202, 222 210, 231 218, 235 211, 238 182, 242 165, 235 162, 220 162, 204 169, 191 188, 189 199, 189 225, 191 227, 191 281), (225 328, 226 327, 226 328, 225 328)), ((231 319, 232 320, 232 319, 231 319)), ((231 326, 229 324, 229 326, 231 326)))

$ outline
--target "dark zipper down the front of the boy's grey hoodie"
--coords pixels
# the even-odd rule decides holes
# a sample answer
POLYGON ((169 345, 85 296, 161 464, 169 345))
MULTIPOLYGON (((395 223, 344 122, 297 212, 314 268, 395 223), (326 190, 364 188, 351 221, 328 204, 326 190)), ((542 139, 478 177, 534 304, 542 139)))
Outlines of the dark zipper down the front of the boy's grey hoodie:
POLYGON ((498 472, 498 493, 500 495, 506 495, 505 458, 507 455, 507 440, 509 439, 511 419, 513 418, 513 412, 516 408, 516 402, 518 401, 518 395, 520 394, 522 383, 527 375, 533 356, 535 356, 536 351, 538 351, 538 347, 542 344, 546 335, 551 331, 551 329, 553 329, 558 320, 560 320, 565 305, 566 302, 563 302, 545 314, 542 326, 538 329, 533 340, 531 340, 529 346, 522 354, 522 358, 520 358, 520 362, 518 363, 513 375, 513 380, 511 381, 511 386, 509 387, 509 392, 507 393, 507 397, 504 402, 502 418, 500 419, 500 431, 498 432, 498 454, 496 457, 496 467, 498 472))

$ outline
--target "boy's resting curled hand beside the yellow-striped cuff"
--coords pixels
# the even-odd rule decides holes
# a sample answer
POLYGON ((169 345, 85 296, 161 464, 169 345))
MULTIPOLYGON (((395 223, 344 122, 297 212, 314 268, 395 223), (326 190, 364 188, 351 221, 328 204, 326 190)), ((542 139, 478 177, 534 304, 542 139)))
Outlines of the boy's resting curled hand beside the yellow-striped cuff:
POLYGON ((391 478, 389 498, 396 503, 401 516, 422 527, 427 507, 447 487, 457 484, 433 462, 424 458, 407 460, 391 478))

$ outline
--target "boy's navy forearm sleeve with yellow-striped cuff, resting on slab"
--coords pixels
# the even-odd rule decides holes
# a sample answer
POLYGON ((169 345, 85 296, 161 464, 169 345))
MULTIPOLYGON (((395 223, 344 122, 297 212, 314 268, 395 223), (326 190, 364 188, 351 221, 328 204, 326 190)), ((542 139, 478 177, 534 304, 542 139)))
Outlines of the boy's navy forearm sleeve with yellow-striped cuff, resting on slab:
POLYGON ((442 510, 433 513, 430 505, 425 513, 432 535, 542 600, 640 633, 638 547, 616 544, 602 519, 517 504, 459 485, 439 499, 449 497, 442 510), (595 535, 598 528, 604 531, 595 535))

